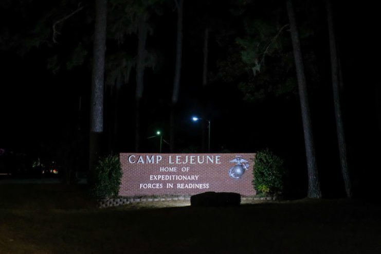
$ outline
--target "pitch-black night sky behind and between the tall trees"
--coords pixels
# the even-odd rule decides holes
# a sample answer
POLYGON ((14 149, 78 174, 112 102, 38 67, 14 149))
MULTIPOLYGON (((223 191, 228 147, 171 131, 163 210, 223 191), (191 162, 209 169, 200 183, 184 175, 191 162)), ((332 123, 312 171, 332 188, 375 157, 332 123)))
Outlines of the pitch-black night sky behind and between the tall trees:
MULTIPOLYGON (((123 42, 116 39, 113 28, 119 12, 111 6, 117 2, 109 2, 106 79, 115 69, 113 61, 118 56, 133 59, 137 52, 136 33, 125 34, 123 42)), ((294 2, 301 34, 303 29, 310 29, 301 41, 305 57, 314 56, 313 65, 306 64, 305 68, 323 193, 334 191, 342 195, 324 2, 294 2), (316 73, 309 69, 311 66, 316 73)), ((368 180, 375 181, 372 175, 379 169, 374 164, 381 141, 381 89, 379 82, 370 78, 374 73, 370 60, 376 58, 373 34, 377 29, 373 29, 374 8, 367 3, 346 1, 334 5, 344 82, 341 94, 344 130, 349 166, 357 186, 368 180)), ((78 170, 86 167, 94 3, 83 1, 81 6, 84 7, 81 11, 57 26, 60 34, 56 38, 58 43, 54 43, 52 24, 76 10, 77 1, 49 4, 2 1, 0 4, 0 149, 6 153, 24 154, 28 161, 37 157, 64 160, 64 156, 74 156, 78 170)), ((161 130, 164 139, 169 141, 177 16, 173 1, 163 1, 155 10, 150 13, 152 33, 148 35, 146 49, 154 53, 157 61, 154 68, 147 67, 144 72, 141 136, 150 137, 161 130)), ((235 68, 244 66, 241 59, 234 56, 239 56, 237 38, 247 35, 243 24, 250 17, 281 25, 288 22, 283 1, 185 0, 176 150, 201 151, 201 124, 206 123, 194 123, 191 116, 201 114, 205 96, 205 112, 211 120, 211 152, 257 152, 268 147, 284 159, 289 177, 296 179, 291 181, 295 189, 305 189, 306 164, 297 88, 280 96, 267 93, 260 100, 247 100, 239 84, 246 82, 249 74, 247 71, 234 73, 235 68), (206 25, 211 27, 209 73, 208 86, 203 89, 206 25), (220 75, 222 66, 227 64, 232 65, 231 73, 227 74, 230 79, 220 75)), ((279 41, 283 52, 289 51, 288 29, 281 33, 279 41)), ((278 81, 269 78, 268 85, 281 82, 283 77, 286 80, 285 75, 296 76, 295 67, 287 72, 279 67, 281 70, 276 72, 277 59, 279 57, 266 58, 265 67, 258 74, 277 77, 278 81)), ((293 58, 289 65, 294 65, 293 58)), ((117 135, 112 137, 116 105, 112 97, 115 91, 113 94, 111 91, 112 86, 106 84, 104 146, 108 152, 133 152, 135 68, 120 89, 117 135)), ((155 138, 142 138, 141 151, 158 152, 158 142, 155 138)), ((169 152, 167 144, 163 145, 163 151, 169 152)))

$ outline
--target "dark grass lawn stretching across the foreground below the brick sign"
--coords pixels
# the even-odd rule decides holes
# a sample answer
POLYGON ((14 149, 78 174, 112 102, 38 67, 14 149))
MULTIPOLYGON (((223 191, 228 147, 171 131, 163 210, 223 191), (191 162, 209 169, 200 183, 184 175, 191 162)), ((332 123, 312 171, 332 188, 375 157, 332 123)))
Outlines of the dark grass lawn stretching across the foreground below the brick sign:
POLYGON ((381 253, 381 207, 302 199, 98 209, 79 187, 0 183, 0 253, 381 253))

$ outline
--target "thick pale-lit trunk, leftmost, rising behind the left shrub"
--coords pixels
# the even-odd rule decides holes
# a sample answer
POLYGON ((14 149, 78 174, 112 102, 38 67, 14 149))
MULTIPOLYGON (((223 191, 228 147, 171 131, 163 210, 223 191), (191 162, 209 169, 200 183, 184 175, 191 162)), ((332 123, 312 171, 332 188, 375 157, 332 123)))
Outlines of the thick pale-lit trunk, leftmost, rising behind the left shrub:
POLYGON ((107 0, 95 1, 94 59, 90 99, 89 173, 101 155, 103 133, 104 60, 106 52, 107 0))

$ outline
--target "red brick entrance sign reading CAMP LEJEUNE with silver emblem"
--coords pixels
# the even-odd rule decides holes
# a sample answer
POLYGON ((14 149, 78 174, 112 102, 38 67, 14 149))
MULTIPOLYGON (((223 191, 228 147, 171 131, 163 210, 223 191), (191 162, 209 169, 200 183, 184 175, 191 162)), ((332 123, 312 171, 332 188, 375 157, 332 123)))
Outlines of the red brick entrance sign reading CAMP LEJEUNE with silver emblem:
POLYGON ((121 153, 119 195, 194 195, 207 191, 255 195, 251 183, 254 157, 254 153, 121 153))

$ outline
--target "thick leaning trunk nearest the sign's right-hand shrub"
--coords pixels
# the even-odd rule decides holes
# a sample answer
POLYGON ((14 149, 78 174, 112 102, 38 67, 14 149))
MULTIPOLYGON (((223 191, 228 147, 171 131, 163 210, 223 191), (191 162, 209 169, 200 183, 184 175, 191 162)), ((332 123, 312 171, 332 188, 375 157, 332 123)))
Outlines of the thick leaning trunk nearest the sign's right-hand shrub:
POLYGON ((286 0, 286 6, 291 28, 291 39, 294 48, 295 67, 299 86, 300 107, 302 112, 304 144, 308 170, 308 197, 320 198, 320 182, 316 165, 315 144, 312 134, 310 107, 308 103, 307 85, 305 81, 299 32, 296 25, 296 18, 292 1, 286 0))

